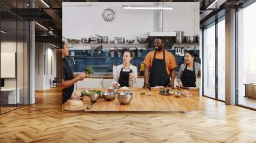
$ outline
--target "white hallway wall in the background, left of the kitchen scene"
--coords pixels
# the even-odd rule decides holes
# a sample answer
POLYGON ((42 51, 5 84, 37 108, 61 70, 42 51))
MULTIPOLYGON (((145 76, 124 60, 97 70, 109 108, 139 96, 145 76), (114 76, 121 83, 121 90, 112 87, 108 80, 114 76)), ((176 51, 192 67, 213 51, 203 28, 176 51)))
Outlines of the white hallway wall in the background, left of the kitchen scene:
POLYGON ((56 49, 47 43, 36 43, 35 50, 35 90, 49 89, 50 79, 56 77, 56 49), (49 67, 52 67, 52 73, 49 67))

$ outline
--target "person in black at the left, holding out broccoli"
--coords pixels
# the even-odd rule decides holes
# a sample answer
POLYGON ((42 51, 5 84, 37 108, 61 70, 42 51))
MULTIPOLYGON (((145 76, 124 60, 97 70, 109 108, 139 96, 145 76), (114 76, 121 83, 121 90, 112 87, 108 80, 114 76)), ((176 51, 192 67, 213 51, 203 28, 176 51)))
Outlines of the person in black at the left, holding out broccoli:
POLYGON ((85 78, 85 73, 73 74, 65 57, 68 56, 67 42, 62 42, 62 103, 67 102, 74 91, 74 84, 85 78))

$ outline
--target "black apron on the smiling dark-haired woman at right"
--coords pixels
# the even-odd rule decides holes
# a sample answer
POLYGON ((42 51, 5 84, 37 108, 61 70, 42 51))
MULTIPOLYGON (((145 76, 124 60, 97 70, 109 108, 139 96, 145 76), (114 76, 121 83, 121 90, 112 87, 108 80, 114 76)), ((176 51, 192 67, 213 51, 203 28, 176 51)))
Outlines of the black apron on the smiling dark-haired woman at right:
POLYGON ((195 73, 195 63, 193 66, 193 71, 187 69, 188 64, 186 64, 186 68, 184 69, 181 77, 181 82, 184 87, 196 87, 196 73, 195 73))

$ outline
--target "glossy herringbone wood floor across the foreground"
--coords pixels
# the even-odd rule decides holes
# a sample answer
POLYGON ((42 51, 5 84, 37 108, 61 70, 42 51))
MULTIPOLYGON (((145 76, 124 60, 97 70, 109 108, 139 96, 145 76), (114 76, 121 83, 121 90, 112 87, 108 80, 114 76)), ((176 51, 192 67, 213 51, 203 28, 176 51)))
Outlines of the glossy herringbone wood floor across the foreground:
POLYGON ((0 116, 0 142, 256 142, 256 112, 200 98, 202 110, 62 113, 61 89, 0 116))

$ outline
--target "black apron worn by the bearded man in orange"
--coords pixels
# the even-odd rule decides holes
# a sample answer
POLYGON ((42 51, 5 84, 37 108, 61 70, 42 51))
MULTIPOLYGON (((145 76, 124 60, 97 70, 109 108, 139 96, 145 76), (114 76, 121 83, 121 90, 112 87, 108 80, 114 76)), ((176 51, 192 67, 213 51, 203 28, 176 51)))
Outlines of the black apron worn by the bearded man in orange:
POLYGON ((168 86, 170 84, 170 77, 166 71, 165 51, 163 51, 164 59, 156 59, 156 51, 150 68, 148 82, 150 87, 154 86, 168 86))

